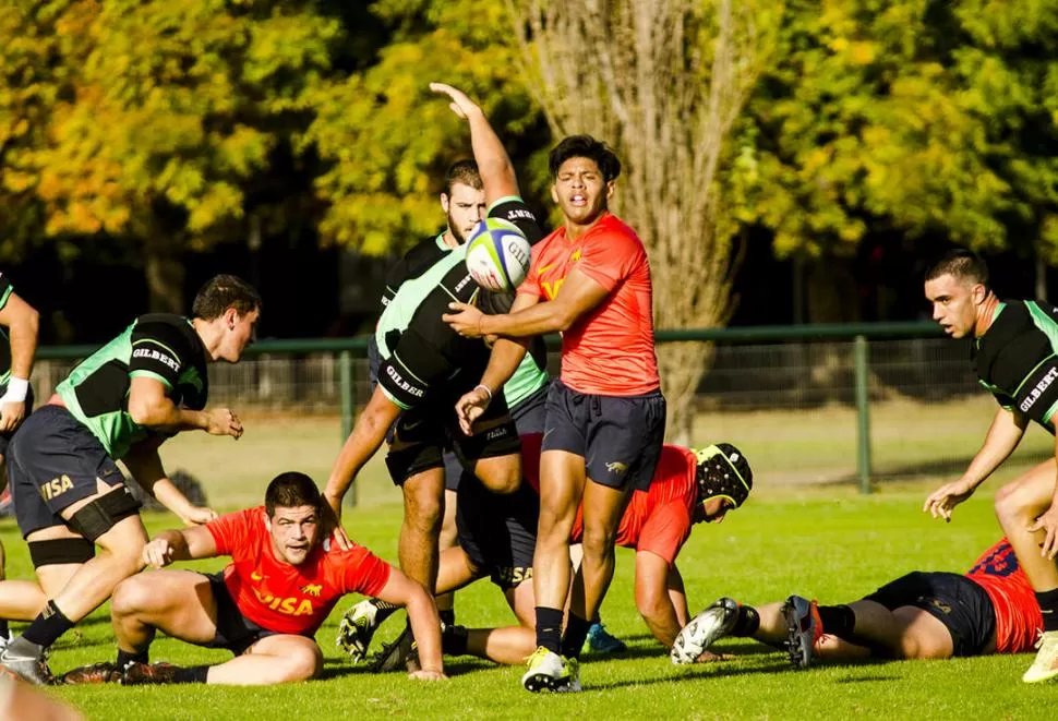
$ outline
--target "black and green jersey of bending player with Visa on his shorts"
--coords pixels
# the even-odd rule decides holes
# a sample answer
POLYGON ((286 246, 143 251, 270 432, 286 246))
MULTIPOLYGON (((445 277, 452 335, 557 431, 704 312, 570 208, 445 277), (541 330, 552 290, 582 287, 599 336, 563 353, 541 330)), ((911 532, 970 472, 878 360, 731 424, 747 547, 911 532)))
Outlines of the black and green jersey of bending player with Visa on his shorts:
POLYGON ((129 414, 129 388, 137 376, 161 383, 178 407, 205 408, 206 350, 191 321, 169 313, 141 315, 56 388, 73 417, 116 460, 149 434, 129 414))

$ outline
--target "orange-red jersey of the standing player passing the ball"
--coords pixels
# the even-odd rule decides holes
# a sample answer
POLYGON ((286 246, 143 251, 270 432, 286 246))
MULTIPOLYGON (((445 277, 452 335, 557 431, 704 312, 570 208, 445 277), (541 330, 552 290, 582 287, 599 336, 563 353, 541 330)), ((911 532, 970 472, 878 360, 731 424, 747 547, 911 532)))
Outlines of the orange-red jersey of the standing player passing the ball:
POLYGON ((642 241, 610 213, 575 241, 558 228, 532 247, 529 275, 518 292, 554 300, 574 267, 609 295, 562 334, 563 383, 600 396, 657 390, 653 290, 642 241))

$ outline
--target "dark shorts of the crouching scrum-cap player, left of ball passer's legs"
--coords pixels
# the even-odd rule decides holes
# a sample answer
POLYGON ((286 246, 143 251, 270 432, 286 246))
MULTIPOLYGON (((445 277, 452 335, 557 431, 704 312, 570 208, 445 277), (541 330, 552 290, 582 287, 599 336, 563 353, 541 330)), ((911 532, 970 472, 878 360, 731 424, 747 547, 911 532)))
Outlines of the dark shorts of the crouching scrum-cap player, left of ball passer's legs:
POLYGON ((540 496, 526 482, 509 495, 491 493, 469 474, 459 485, 459 545, 503 590, 532 578, 539 518, 540 496))

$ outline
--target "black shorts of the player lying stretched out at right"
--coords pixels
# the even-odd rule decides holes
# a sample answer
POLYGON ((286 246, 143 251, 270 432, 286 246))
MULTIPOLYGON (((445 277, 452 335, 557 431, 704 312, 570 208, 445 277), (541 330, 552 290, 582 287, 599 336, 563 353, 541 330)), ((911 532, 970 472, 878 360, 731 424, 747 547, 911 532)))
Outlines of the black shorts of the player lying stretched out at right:
POLYGON ((928 612, 948 628, 955 656, 981 656, 996 635, 996 610, 988 593, 959 574, 915 570, 864 600, 890 611, 911 605, 928 612))

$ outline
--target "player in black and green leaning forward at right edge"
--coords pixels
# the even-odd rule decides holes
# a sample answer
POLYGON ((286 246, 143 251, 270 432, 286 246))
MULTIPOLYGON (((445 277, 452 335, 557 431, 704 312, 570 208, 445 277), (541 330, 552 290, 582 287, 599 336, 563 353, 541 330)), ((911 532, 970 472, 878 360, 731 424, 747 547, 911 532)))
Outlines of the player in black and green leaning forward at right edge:
MULTIPOLYGON (((1000 301, 988 287, 988 268, 974 253, 953 251, 926 274, 933 317, 953 338, 972 340, 974 370, 999 409, 981 449, 962 478, 931 493, 923 510, 951 520, 952 509, 1013 453, 1035 421, 1055 433, 1058 410, 1058 309, 1031 300, 1000 301)), ((1056 440, 1058 454, 1058 440, 1056 440)), ((999 525, 1036 593, 1043 614, 1039 651, 1022 681, 1058 676, 1058 466, 1050 458, 996 494, 999 525)))

